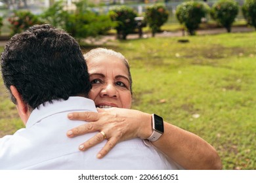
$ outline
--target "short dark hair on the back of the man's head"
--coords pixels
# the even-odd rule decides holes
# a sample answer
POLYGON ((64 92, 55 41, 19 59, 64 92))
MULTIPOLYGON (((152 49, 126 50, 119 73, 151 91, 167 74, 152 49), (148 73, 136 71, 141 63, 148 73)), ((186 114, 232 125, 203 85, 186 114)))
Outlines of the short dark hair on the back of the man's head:
POLYGON ((79 44, 51 25, 34 25, 14 35, 1 54, 1 71, 7 89, 15 86, 32 109, 54 99, 86 97, 91 90, 79 44))

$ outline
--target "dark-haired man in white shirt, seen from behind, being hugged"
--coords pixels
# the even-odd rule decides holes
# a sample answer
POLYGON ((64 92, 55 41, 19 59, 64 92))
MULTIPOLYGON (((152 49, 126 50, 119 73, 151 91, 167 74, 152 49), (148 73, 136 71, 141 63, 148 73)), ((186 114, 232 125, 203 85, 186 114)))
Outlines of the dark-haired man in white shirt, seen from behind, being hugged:
POLYGON ((14 35, 1 54, 1 71, 26 128, 0 138, 0 169, 171 168, 153 148, 139 148, 140 139, 120 142, 97 159, 106 140, 86 152, 77 148, 97 133, 66 137, 68 129, 84 124, 68 120, 69 112, 96 108, 85 98, 91 84, 79 44, 65 31, 34 25, 14 35))

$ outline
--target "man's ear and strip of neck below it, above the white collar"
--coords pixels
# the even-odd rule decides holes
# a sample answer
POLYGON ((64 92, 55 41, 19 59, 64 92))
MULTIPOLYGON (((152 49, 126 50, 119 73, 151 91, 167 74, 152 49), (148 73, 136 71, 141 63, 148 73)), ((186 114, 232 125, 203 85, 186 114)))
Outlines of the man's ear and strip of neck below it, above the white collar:
POLYGON ((23 101, 22 96, 18 92, 17 88, 15 86, 11 86, 10 90, 12 92, 12 95, 16 99, 16 108, 18 110, 18 114, 24 124, 28 121, 28 117, 30 116, 30 111, 28 110, 28 105, 23 101))

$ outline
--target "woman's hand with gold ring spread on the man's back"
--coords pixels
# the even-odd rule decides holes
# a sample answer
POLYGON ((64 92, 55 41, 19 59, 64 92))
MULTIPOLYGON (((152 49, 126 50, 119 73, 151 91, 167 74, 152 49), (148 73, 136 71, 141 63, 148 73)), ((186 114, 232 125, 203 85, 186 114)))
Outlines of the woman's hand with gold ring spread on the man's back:
POLYGON ((152 133, 151 115, 126 108, 97 108, 98 112, 72 112, 68 114, 70 120, 83 120, 89 123, 80 125, 68 131, 68 137, 76 137, 85 133, 103 131, 79 146, 79 150, 87 150, 107 139, 97 158, 103 158, 121 141, 148 138, 152 133), (106 137, 104 138, 104 134, 106 137))

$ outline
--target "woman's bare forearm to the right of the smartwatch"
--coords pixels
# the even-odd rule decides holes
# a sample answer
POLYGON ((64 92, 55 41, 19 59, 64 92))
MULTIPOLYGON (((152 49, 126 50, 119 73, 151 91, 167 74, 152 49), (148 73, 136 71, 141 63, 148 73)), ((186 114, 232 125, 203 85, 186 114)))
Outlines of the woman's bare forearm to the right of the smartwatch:
POLYGON ((152 144, 184 169, 221 169, 222 163, 209 143, 175 125, 164 122, 165 132, 152 144))

